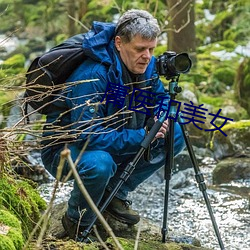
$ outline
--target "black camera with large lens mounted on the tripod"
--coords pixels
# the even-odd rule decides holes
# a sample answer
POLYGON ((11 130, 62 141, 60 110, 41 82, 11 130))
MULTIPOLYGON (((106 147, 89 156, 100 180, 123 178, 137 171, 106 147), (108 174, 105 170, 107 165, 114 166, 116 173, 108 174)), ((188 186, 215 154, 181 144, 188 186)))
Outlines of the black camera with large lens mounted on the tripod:
POLYGON ((156 69, 159 75, 167 80, 187 73, 192 66, 192 61, 187 53, 176 54, 174 51, 164 52, 156 59, 156 69))

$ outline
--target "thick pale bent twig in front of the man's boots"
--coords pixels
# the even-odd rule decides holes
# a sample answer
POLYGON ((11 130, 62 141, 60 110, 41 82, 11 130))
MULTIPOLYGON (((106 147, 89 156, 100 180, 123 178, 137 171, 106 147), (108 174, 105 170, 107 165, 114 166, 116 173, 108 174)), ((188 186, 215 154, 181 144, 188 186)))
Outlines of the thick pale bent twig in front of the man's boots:
POLYGON ((118 249, 119 250, 124 250, 123 247, 121 246, 121 244, 119 243, 119 241, 117 240, 116 236, 114 235, 111 227, 106 222, 106 220, 104 219, 104 217, 102 216, 102 214, 100 213, 100 211, 98 210, 98 208, 96 207, 95 203, 93 202, 92 198, 90 197, 90 195, 89 195, 88 191, 86 190, 85 186, 83 185, 83 182, 82 182, 79 174, 77 173, 77 170, 75 168, 74 162, 73 162, 73 160, 71 158, 70 150, 69 149, 64 149, 61 152, 61 158, 64 158, 64 159, 68 160, 68 163, 69 163, 69 166, 70 166, 70 168, 71 168, 71 170, 73 172, 73 176, 75 178, 75 181, 77 182, 78 187, 79 187, 80 191, 82 192, 84 198, 88 202, 90 208, 95 212, 95 214, 97 215, 98 219, 100 220, 100 222, 104 226, 105 230, 113 238, 114 243, 118 247, 118 249))

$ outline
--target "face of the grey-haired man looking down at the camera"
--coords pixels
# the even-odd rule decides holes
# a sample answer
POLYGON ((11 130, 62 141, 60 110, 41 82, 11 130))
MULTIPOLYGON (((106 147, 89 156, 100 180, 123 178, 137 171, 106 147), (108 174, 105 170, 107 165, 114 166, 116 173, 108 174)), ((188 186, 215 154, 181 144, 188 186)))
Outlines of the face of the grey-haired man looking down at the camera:
POLYGON ((128 70, 134 74, 143 74, 153 55, 157 39, 146 40, 136 35, 128 43, 124 43, 121 37, 115 37, 115 46, 128 70))

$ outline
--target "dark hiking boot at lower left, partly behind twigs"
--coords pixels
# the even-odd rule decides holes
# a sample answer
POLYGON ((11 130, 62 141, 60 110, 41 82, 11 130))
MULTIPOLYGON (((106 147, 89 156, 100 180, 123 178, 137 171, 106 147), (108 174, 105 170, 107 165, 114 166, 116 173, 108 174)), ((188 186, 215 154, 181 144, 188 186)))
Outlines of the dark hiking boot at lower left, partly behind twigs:
POLYGON ((85 239, 83 237, 83 232, 85 231, 86 227, 78 225, 78 223, 68 217, 67 213, 65 213, 62 217, 62 225, 66 233, 65 236, 68 236, 70 239, 85 243, 97 241, 97 238, 92 234, 90 234, 85 239))

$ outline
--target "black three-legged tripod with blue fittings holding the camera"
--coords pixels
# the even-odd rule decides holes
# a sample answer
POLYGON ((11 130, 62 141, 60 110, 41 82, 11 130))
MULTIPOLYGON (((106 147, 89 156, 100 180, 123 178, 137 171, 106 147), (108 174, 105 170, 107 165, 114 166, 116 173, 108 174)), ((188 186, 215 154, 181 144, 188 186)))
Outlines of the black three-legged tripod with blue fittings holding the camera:
MULTIPOLYGON (((165 200, 164 200, 164 215, 163 215, 163 226, 162 226, 162 242, 165 243, 166 242, 166 234, 168 232, 167 230, 167 215, 168 215, 168 196, 169 196, 169 182, 171 179, 171 175, 172 175, 172 168, 173 168, 173 163, 174 163, 174 119, 176 116, 176 105, 173 102, 173 100, 175 100, 175 96, 177 95, 177 93, 181 92, 181 88, 178 86, 178 78, 176 80, 172 79, 169 83, 169 94, 170 94, 170 108, 169 108, 169 132, 168 132, 168 136, 166 138, 166 144, 167 144, 167 148, 168 150, 166 151, 166 161, 165 161, 165 200)), ((142 141, 141 143, 141 148, 138 151, 138 153, 135 155, 134 159, 128 163, 128 165, 126 166, 126 168, 124 169, 123 173, 120 176, 120 180, 117 183, 117 185, 115 186, 115 188, 113 189, 113 191, 109 194, 108 198, 106 199, 106 201, 102 204, 101 208, 100 208, 100 212, 102 213, 107 206, 109 205, 109 203, 112 201, 112 199, 114 198, 114 196, 116 195, 116 193, 118 192, 118 190, 120 189, 120 187, 122 186, 122 184, 129 178, 129 176, 132 174, 132 172, 134 171, 138 161, 140 160, 140 158, 143 156, 143 154, 145 153, 145 151, 148 149, 148 147, 150 146, 151 142, 153 141, 153 139, 155 138, 155 135, 157 134, 157 132, 159 131, 159 129, 161 128, 163 122, 165 121, 167 117, 167 112, 163 112, 159 119, 155 122, 155 124, 153 125, 153 127, 151 128, 150 132, 148 133, 148 135, 145 137, 145 139, 142 141)), ((215 221, 215 217, 213 215, 213 211, 208 199, 208 195, 206 192, 206 184, 204 182, 204 177, 198 167, 198 163, 193 151, 193 148, 191 146, 190 143, 190 139, 189 139, 189 135, 188 132, 186 130, 185 125, 183 124, 183 120, 181 120, 181 116, 178 117, 178 121, 180 121, 181 124, 181 129, 182 129, 182 133, 184 136, 184 140, 186 142, 186 146, 192 161, 192 164, 194 166, 194 171, 195 171, 195 178, 196 181, 199 185, 199 189, 203 194, 219 245, 221 250, 225 250, 221 236, 220 236, 220 232, 218 229, 218 226, 216 224, 215 221)), ((92 230, 92 227, 94 226, 95 222, 97 220, 97 216, 94 217, 93 221, 90 223, 90 225, 87 227, 87 229, 84 230, 84 232, 82 233, 82 237, 83 239, 87 239, 89 233, 92 230)))

